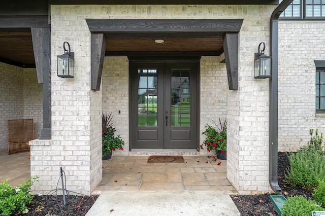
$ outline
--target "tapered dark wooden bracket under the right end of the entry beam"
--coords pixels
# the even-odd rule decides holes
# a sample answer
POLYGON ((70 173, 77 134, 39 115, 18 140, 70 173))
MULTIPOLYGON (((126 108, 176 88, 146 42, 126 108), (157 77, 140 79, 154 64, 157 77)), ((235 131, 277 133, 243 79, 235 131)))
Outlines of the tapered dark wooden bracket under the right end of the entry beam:
POLYGON ((230 90, 238 90, 238 33, 223 35, 224 59, 230 90))

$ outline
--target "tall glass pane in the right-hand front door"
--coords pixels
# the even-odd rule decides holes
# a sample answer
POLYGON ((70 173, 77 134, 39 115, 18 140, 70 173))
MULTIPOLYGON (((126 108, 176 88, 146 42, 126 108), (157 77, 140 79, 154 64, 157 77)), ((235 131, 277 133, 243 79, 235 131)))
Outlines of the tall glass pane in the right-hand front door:
POLYGON ((172 70, 171 126, 190 126, 190 70, 172 70))

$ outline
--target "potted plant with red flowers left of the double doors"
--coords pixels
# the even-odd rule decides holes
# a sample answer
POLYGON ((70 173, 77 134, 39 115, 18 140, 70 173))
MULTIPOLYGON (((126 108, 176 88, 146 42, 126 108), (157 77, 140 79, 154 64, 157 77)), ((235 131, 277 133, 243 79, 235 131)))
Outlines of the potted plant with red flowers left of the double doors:
POLYGON ((112 123, 112 113, 102 115, 102 152, 103 160, 110 159, 112 157, 112 151, 123 150, 124 141, 120 135, 115 136, 116 129, 112 123))

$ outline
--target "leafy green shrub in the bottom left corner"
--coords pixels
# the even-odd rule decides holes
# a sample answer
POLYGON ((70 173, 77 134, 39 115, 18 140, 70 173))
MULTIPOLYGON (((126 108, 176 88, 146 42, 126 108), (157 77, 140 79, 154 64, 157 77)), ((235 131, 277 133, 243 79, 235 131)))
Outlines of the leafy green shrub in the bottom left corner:
POLYGON ((37 181, 37 178, 38 176, 30 178, 16 188, 7 183, 8 179, 3 180, 3 184, 0 184, 0 215, 28 212, 27 205, 32 200, 30 186, 37 181))

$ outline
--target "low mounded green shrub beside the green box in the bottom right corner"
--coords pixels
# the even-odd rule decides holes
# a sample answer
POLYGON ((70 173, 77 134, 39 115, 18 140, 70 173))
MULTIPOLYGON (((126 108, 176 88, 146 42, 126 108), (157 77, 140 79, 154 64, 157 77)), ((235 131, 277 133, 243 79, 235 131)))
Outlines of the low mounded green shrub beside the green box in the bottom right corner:
POLYGON ((314 200, 307 200, 303 196, 288 197, 281 208, 282 216, 308 216, 312 211, 323 211, 314 200))

